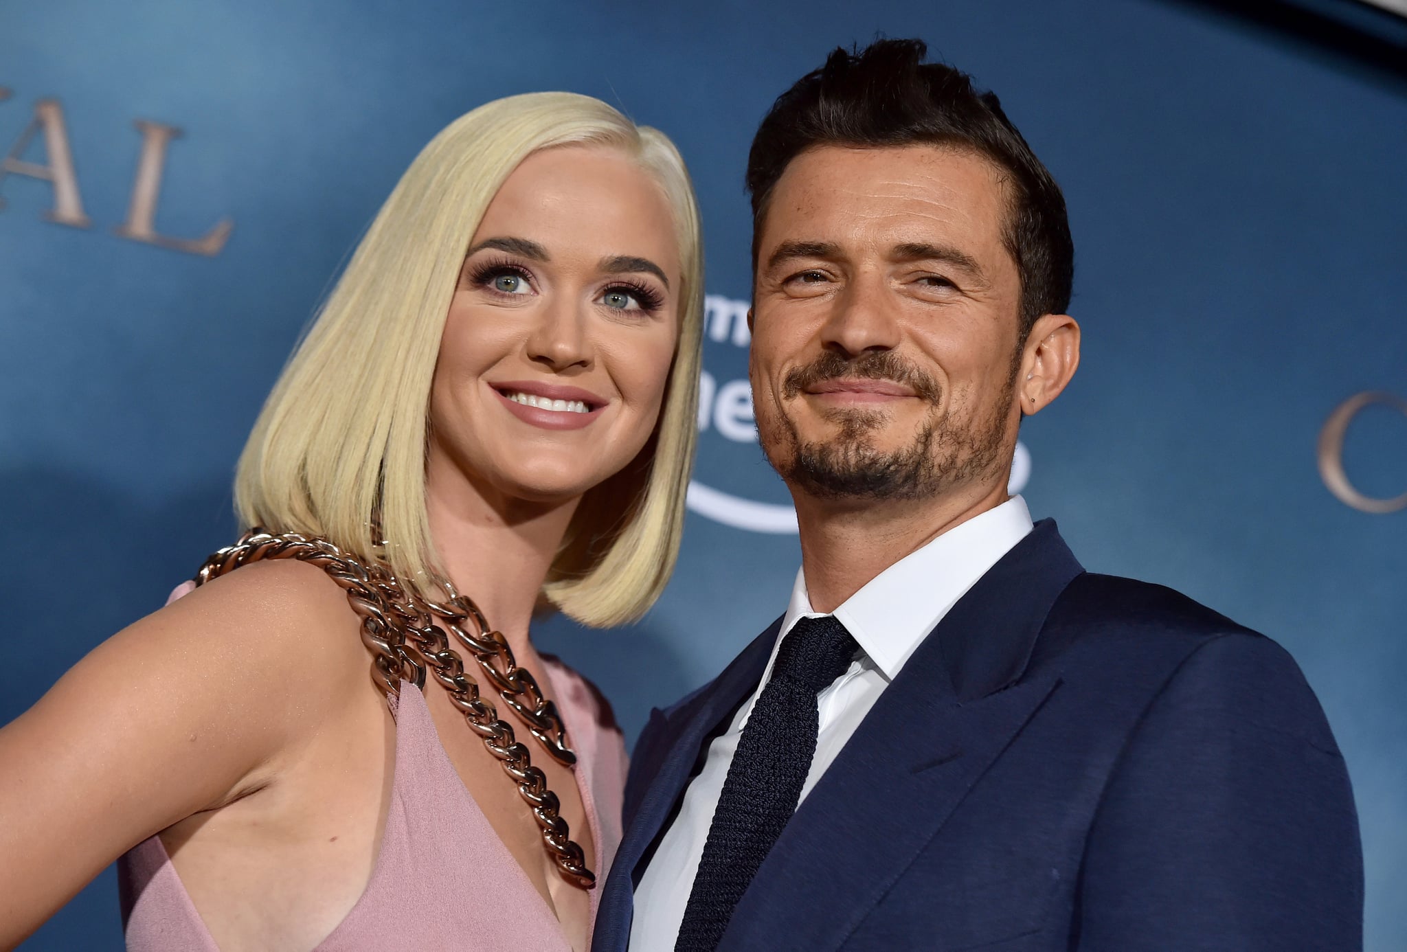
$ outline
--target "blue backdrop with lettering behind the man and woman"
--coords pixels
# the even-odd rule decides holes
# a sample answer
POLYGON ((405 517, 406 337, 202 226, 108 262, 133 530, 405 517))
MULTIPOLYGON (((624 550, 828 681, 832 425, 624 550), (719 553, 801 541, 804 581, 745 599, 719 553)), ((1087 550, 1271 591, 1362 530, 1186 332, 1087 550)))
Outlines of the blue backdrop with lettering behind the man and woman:
MULTIPOLYGON (((1407 87, 1161 0, 688 6, 0 0, 0 723, 229 541, 259 404, 416 150, 490 98, 564 89, 668 132, 705 212, 709 399, 678 572, 636 627, 540 630, 633 737, 782 612, 796 570, 739 382, 751 134, 829 48, 919 35, 1002 96, 1069 201, 1085 359, 1023 430, 1031 510, 1086 567, 1290 650, 1352 772, 1368 948, 1407 948, 1407 509, 1341 501, 1316 449, 1355 394, 1407 397, 1407 87), (72 176, 51 184, 32 173, 55 129, 72 176), (55 184, 86 226, 46 221, 55 184), (221 221, 215 255, 159 239, 221 221)), ((1407 491, 1407 415, 1363 408, 1342 465, 1365 496, 1407 491)), ((23 948, 120 946, 108 872, 23 948)))

